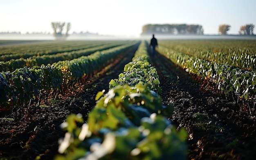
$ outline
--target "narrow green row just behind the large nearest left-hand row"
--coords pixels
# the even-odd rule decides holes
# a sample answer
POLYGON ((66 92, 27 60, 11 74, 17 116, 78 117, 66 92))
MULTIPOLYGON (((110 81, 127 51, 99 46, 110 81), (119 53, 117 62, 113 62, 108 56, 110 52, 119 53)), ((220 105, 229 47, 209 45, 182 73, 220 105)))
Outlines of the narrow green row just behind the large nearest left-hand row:
POLYGON ((115 43, 104 44, 100 46, 98 45, 91 48, 86 48, 86 49, 81 49, 81 50, 76 50, 71 52, 58 53, 55 55, 42 55, 42 56, 29 57, 27 59, 20 58, 20 59, 11 59, 10 61, 1 61, 0 71, 13 72, 16 69, 23 68, 25 66, 27 66, 28 68, 31 68, 33 66, 53 64, 54 62, 71 60, 81 56, 90 55, 98 50, 106 50, 108 48, 121 46, 124 44, 125 44, 124 42, 115 42, 115 43))

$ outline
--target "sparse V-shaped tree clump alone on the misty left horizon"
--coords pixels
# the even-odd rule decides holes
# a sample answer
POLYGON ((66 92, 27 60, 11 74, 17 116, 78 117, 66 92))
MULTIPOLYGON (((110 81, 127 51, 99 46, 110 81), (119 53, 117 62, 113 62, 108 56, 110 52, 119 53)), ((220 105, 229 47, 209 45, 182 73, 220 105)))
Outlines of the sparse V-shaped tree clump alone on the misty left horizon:
POLYGON ((68 36, 68 32, 70 31, 71 24, 70 22, 52 22, 53 35, 57 39, 65 39, 68 36), (64 32, 64 27, 66 26, 66 30, 64 32))

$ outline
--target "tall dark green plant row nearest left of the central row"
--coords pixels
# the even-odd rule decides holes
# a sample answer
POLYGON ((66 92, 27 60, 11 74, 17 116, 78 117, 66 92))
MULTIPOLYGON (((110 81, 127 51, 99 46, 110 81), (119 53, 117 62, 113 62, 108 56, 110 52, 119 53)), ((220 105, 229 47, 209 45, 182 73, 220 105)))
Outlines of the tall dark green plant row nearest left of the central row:
POLYGON ((42 99, 47 100, 49 95, 64 94, 67 89, 65 86, 70 81, 103 69, 118 56, 124 56, 130 48, 138 45, 138 42, 130 42, 71 61, 2 72, 0 73, 0 110, 22 108, 29 112, 39 106, 42 99))

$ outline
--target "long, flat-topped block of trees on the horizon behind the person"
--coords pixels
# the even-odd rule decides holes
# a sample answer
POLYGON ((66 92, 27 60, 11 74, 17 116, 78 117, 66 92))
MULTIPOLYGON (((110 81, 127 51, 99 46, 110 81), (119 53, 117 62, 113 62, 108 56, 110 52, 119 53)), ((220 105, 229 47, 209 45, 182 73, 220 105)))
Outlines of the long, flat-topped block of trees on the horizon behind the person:
POLYGON ((203 35, 204 30, 199 24, 146 24, 142 26, 141 35, 153 33, 203 35))

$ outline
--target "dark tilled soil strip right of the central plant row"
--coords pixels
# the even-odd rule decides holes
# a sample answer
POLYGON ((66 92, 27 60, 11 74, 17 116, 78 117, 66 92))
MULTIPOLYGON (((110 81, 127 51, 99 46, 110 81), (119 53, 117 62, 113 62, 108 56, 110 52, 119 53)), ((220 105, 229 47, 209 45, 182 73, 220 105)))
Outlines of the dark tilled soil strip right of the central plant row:
POLYGON ((170 118, 189 132, 189 159, 253 160, 256 157, 256 121, 240 106, 224 103, 212 93, 200 92, 202 81, 189 76, 162 55, 151 56, 157 68, 164 105, 174 105, 170 118))

